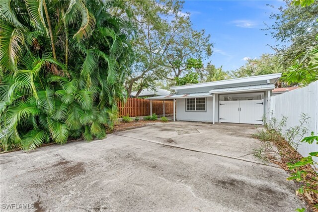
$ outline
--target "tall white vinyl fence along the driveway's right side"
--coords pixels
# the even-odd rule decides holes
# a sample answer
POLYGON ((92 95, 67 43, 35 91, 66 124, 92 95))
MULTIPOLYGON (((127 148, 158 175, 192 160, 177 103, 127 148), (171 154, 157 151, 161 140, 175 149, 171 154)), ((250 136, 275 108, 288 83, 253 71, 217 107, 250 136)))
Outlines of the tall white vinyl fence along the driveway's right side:
MULTIPOLYGON (((305 126, 308 128, 308 133, 305 136, 310 136, 314 131, 315 135, 318 133, 318 81, 310 85, 299 88, 285 94, 271 97, 270 109, 273 117, 278 120, 282 119, 282 115, 287 117, 286 127, 284 131, 290 127, 299 125, 301 113, 308 114, 311 118, 309 123, 305 126)), ((318 145, 301 143, 297 151, 303 156, 307 157, 310 152, 318 152, 318 145)), ((318 162, 318 158, 314 157, 318 162)), ((317 167, 318 168, 318 167, 317 167)))

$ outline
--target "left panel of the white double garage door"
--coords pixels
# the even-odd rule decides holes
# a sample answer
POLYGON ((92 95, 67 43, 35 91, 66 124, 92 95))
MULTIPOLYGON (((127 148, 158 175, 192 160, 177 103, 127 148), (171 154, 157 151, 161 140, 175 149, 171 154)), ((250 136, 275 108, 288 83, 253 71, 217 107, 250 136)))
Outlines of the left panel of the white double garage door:
POLYGON ((239 101, 220 101, 220 122, 239 123, 239 101))

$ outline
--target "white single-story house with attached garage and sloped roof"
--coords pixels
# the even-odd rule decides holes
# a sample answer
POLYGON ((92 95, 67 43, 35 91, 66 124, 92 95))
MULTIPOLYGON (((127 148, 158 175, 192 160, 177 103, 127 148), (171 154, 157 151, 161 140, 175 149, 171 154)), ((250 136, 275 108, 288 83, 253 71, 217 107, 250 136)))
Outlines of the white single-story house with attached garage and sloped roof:
MULTIPOLYGON (((270 115, 270 96, 281 73, 171 87, 173 95, 147 98, 174 100, 173 120, 263 124, 270 115)), ((151 112, 152 112, 152 104, 151 112)))

